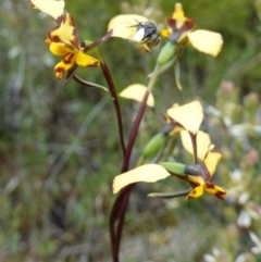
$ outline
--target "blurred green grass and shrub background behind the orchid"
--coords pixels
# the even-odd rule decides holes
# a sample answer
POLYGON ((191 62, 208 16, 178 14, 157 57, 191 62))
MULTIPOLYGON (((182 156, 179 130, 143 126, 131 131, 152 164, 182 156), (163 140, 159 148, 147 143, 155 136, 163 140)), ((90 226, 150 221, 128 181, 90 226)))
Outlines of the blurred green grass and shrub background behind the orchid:
MULTIPOLYGON (((66 1, 66 10, 79 36, 94 40, 120 13, 147 14, 163 27, 174 3, 77 0, 66 1)), ((159 130, 167 107, 198 97, 210 110, 204 129, 224 153, 215 178, 219 185, 235 188, 234 198, 222 202, 204 195, 194 201, 162 201, 146 196, 184 185, 171 179, 138 185, 127 212, 121 258, 198 262, 219 250, 212 261, 236 261, 243 253, 241 261, 261 261, 248 252, 254 246, 248 232, 261 236, 260 216, 245 227, 237 223, 241 211, 253 205, 261 213, 261 1, 184 0, 183 5, 197 28, 223 35, 223 50, 213 59, 186 48, 181 64, 183 92, 175 87, 173 72, 158 82, 157 115, 147 111, 133 158, 137 160, 145 141, 159 130), (209 105, 215 107, 219 117, 209 105), (224 127, 225 120, 229 128, 224 127), (249 200, 240 202, 243 194, 249 200)), ((110 97, 74 82, 64 87, 55 78, 59 59, 45 43, 54 21, 33 10, 28 1, 2 0, 0 25, 0 261, 110 261, 111 183, 122 161, 110 97)), ((100 51, 120 91, 129 84, 147 84, 159 48, 146 53, 111 39, 100 51)), ((105 85, 99 68, 82 68, 79 75, 105 85)), ((121 100, 121 105, 127 138, 137 104, 121 100)))

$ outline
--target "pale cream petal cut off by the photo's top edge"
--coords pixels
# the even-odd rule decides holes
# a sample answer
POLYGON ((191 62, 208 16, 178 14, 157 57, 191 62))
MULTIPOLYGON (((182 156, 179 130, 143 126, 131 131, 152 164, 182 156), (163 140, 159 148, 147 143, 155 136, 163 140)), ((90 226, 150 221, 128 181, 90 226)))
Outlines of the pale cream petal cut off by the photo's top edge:
POLYGON ((51 15, 54 20, 62 15, 64 9, 64 0, 29 0, 35 9, 51 15))

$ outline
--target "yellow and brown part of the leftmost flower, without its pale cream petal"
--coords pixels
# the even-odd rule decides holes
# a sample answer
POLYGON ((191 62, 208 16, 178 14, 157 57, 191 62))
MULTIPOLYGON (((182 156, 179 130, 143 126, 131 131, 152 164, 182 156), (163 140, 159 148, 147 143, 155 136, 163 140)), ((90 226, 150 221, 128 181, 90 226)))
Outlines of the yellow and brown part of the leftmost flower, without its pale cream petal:
POLYGON ((74 20, 69 13, 64 14, 58 26, 48 33, 46 42, 54 55, 62 57, 62 61, 54 67, 59 79, 75 64, 79 66, 100 65, 97 59, 83 52, 84 47, 80 46, 74 20))

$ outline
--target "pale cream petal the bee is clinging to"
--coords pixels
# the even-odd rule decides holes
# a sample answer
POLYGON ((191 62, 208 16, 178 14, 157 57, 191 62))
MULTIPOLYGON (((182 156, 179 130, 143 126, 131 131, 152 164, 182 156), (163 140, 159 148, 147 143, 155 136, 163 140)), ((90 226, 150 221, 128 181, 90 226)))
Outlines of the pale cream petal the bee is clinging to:
POLYGON ((108 30, 113 29, 113 37, 121 37, 125 39, 134 40, 134 36, 137 32, 136 25, 140 22, 147 22, 148 20, 138 14, 121 14, 114 16, 108 25, 108 30))

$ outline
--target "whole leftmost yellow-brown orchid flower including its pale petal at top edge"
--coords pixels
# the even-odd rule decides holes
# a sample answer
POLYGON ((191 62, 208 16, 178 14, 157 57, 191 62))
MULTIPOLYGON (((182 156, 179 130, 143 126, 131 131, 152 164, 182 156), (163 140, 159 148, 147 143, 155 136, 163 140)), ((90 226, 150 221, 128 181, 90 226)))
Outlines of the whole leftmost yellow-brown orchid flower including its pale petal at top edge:
POLYGON ((51 15, 58 23, 57 27, 48 33, 46 40, 50 51, 58 57, 62 57, 54 72, 59 79, 74 65, 99 66, 100 62, 83 52, 75 23, 71 14, 63 14, 64 0, 29 0, 33 8, 51 15))

